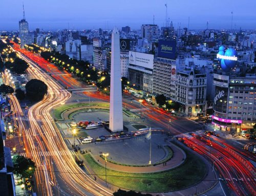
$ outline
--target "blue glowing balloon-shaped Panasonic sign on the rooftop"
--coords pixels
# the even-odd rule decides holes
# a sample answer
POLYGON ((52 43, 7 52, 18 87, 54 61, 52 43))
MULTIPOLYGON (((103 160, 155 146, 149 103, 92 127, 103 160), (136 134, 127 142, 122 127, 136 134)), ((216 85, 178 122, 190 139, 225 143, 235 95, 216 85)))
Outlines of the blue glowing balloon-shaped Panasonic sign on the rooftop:
POLYGON ((224 46, 220 46, 217 58, 221 62, 221 69, 228 72, 237 64, 237 52, 233 48, 225 50, 224 46))

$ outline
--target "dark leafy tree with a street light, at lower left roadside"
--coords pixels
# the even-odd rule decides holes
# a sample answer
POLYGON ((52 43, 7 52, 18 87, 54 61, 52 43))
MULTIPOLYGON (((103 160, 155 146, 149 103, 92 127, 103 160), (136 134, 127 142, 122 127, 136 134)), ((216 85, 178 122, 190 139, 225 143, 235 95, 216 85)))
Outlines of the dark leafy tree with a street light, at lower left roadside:
POLYGON ((35 163, 23 156, 15 155, 12 158, 13 173, 22 178, 29 178, 35 171, 35 163))

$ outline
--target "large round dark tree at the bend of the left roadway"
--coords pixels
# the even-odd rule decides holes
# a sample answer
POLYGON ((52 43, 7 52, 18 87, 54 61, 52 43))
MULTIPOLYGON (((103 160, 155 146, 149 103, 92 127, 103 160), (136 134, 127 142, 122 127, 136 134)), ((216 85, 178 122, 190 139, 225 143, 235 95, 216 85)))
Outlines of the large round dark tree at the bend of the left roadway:
POLYGON ((48 86, 45 82, 32 79, 30 80, 26 86, 26 95, 31 101, 40 101, 47 94, 48 86))

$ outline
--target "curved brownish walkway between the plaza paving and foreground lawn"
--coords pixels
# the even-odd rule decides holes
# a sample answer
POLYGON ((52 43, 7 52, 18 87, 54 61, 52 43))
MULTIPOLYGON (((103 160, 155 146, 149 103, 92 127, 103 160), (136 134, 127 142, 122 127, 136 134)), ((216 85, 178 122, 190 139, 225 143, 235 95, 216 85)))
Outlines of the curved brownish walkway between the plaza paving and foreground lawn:
MULTIPOLYGON (((117 165, 114 163, 107 162, 106 167, 108 169, 113 169, 117 171, 123 171, 123 172, 134 172, 134 173, 148 173, 148 172, 157 172, 157 171, 164 171, 169 170, 175 167, 178 167, 181 165, 186 155, 182 149, 180 149, 178 146, 168 142, 168 146, 172 148, 173 150, 173 157, 169 161, 166 162, 166 165, 163 166, 163 164, 159 164, 156 166, 144 166, 144 167, 134 167, 134 166, 124 166, 124 165, 117 165)), ((95 161, 102 166, 105 167, 105 161, 102 159, 99 155, 92 155, 92 157, 95 159, 95 161)))

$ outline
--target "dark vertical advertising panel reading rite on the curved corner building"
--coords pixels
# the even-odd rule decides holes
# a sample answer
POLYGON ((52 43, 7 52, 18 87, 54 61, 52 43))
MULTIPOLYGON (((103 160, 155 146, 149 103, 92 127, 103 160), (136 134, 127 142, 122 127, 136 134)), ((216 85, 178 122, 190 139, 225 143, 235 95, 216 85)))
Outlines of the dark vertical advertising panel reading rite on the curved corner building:
POLYGON ((228 89, 220 86, 215 87, 214 110, 219 113, 227 113, 228 89))

